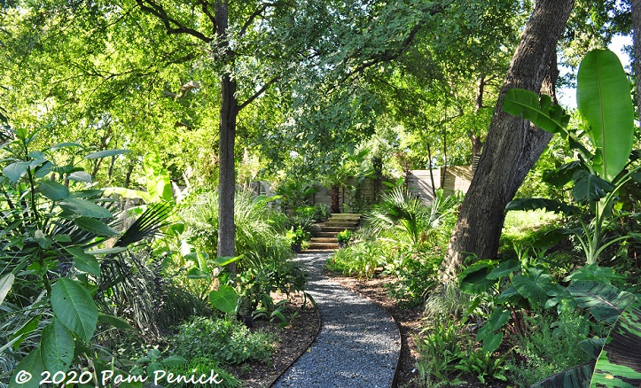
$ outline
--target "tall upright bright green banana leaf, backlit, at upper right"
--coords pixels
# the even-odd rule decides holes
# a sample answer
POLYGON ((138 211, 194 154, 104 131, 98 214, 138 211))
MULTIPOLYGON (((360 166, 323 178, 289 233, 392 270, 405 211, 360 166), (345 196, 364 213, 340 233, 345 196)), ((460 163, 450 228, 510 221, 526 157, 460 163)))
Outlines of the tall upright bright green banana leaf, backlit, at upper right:
POLYGON ((628 77, 610 50, 591 50, 581 61, 576 102, 597 149, 593 166, 612 181, 628 163, 634 141, 634 108, 628 77), (599 158, 600 156, 600 158, 599 158))

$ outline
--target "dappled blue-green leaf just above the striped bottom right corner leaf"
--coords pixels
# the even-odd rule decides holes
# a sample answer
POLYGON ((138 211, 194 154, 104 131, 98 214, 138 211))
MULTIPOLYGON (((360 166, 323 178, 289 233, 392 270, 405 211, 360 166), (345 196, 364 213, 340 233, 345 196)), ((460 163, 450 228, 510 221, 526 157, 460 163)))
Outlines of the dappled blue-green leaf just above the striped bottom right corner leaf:
POLYGON ((616 318, 636 300, 634 294, 620 291, 611 284, 579 280, 567 287, 576 304, 585 308, 597 321, 614 323, 616 318))

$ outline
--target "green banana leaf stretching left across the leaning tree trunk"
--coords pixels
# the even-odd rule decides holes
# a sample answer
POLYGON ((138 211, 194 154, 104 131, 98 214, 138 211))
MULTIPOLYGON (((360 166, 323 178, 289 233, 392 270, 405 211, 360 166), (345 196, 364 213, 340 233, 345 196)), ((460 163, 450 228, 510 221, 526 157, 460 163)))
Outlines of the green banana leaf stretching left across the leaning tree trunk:
POLYGON ((539 96, 527 89, 510 89, 503 99, 503 110, 512 116, 530 120, 536 127, 553 134, 566 131, 570 117, 550 96, 539 96))

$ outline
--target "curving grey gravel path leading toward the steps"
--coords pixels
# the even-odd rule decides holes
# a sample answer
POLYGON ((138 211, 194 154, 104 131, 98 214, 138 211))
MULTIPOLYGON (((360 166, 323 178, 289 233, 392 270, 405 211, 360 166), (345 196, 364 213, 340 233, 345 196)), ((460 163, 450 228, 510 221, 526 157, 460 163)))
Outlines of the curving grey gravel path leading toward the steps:
POLYGON ((272 387, 390 387, 401 349, 398 329, 386 311, 323 275, 329 254, 296 259, 309 269, 307 291, 322 326, 308 351, 272 387))

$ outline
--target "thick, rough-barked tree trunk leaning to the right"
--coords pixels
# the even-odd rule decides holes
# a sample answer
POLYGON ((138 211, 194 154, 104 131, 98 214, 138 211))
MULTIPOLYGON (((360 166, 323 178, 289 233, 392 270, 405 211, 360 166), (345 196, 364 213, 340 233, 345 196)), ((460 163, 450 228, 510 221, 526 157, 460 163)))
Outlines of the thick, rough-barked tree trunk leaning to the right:
MULTIPOLYGON (((546 77, 553 86, 557 42, 573 5, 573 0, 538 0, 535 4, 505 77, 479 166, 449 240, 442 266, 446 281, 457 274, 468 253, 479 258, 496 257, 505 206, 551 139, 551 134, 529 121, 504 113, 502 100, 512 88, 540 92, 546 77)), ((545 91, 553 91, 550 89, 545 91)))

